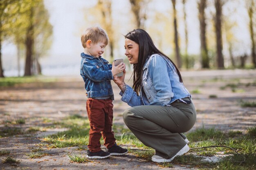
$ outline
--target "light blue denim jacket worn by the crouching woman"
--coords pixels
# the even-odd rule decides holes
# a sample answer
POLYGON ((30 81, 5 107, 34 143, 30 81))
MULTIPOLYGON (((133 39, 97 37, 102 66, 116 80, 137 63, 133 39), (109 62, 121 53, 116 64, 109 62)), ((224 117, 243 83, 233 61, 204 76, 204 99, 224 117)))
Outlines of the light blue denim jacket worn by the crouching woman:
POLYGON ((161 105, 170 106, 177 99, 190 97, 189 91, 180 82, 173 64, 159 54, 151 55, 143 68, 143 89, 146 96, 138 96, 133 89, 126 85, 121 100, 129 106, 161 105))

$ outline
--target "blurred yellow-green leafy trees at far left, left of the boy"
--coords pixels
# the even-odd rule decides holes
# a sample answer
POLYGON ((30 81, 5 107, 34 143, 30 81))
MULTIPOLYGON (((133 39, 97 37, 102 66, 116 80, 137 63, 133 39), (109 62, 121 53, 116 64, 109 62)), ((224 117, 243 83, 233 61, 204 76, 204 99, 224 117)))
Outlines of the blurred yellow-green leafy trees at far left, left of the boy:
MULTIPOLYGON (((41 74, 39 58, 52 44, 52 25, 43 0, 0 0, 0 50, 9 40, 17 47, 18 75, 20 57, 25 53, 24 76, 41 74)), ((0 51, 0 77, 4 77, 0 51)))

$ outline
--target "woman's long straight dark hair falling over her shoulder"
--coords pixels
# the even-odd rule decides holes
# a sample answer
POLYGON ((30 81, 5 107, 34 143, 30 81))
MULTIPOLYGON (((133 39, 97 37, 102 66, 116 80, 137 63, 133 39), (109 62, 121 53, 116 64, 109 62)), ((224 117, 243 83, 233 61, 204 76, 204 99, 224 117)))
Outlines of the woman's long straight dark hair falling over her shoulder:
POLYGON ((129 40, 132 40, 139 44, 139 57, 138 62, 136 64, 133 64, 133 86, 137 94, 139 94, 139 91, 141 91, 144 94, 143 87, 142 87, 142 76, 143 76, 143 66, 152 54, 160 54, 163 57, 165 57, 167 60, 169 60, 173 66, 175 66, 176 72, 180 77, 180 82, 182 81, 182 77, 180 75, 180 71, 178 70, 177 66, 173 63, 173 61, 167 57, 164 53, 159 51, 156 46, 153 43, 153 40, 151 39, 150 35, 143 30, 143 29, 134 29, 133 31, 130 31, 127 33, 125 38, 128 38, 129 40))

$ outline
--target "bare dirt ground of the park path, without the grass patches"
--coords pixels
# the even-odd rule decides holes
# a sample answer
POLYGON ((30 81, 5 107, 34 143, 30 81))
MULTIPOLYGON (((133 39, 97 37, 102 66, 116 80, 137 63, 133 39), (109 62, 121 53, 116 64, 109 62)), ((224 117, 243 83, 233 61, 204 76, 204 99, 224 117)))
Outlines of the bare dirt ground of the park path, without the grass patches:
MULTIPOLYGON (((197 121, 192 130, 204 126, 229 131, 245 132, 256 126, 256 108, 241 107, 240 100, 256 100, 256 70, 188 71, 182 72, 184 84, 192 93, 197 109, 197 121), (231 89, 233 87, 233 91, 231 89), (209 97, 212 96, 212 97, 209 97)), ((132 80, 128 82, 131 84, 132 80)), ((129 106, 121 102, 119 89, 113 84, 114 124, 124 125, 122 112, 129 106)), ((80 77, 62 77, 54 83, 21 84, 0 88, 0 128, 8 121, 25 119, 25 124, 15 125, 22 129, 46 127, 47 120, 58 121, 72 114, 87 116, 85 110, 85 90, 80 77)), ((13 125, 14 126, 14 125, 13 125)), ((125 125, 124 125, 125 126, 125 125)), ((146 162, 132 154, 110 159, 94 160, 89 163, 71 163, 67 152, 85 155, 84 150, 73 148, 47 149, 49 155, 29 159, 25 154, 40 145, 42 137, 63 129, 47 129, 34 135, 18 135, 0 138, 0 149, 11 150, 11 156, 20 161, 18 166, 3 164, 5 156, 0 156, 0 168, 31 170, 157 170, 160 167, 146 162)), ((186 170, 186 167, 173 167, 186 170)), ((162 170, 172 168, 161 168, 162 170)))

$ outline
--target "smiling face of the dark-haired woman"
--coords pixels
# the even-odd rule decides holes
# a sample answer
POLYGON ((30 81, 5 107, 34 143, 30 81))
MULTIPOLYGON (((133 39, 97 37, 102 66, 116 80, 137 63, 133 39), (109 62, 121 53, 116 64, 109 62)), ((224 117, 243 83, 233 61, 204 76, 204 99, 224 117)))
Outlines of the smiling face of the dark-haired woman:
POLYGON ((125 55, 128 57, 130 64, 136 64, 139 58, 139 44, 126 38, 124 45, 125 55))

